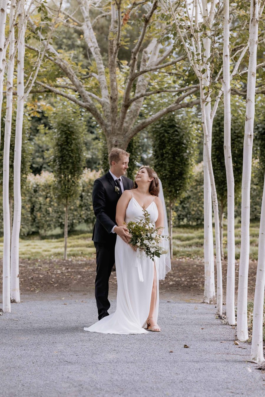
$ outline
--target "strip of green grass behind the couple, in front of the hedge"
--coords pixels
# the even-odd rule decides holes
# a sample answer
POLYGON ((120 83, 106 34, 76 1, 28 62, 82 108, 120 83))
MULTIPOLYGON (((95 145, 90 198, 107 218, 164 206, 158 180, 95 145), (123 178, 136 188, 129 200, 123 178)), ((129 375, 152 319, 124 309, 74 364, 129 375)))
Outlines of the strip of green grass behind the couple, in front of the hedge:
MULTIPOLYGON (((215 233, 214 233, 215 234, 215 233)), ((94 258, 95 247, 91 241, 92 233, 75 231, 68 236, 68 258, 94 258)), ((240 224, 236 224, 236 259, 240 257, 240 224)), ((257 259, 259 223, 250 224, 250 259, 257 259)), ((226 254, 227 232, 224 226, 224 253, 226 254)), ((0 256, 3 251, 3 237, 0 238, 0 256)), ((173 252, 175 258, 203 258, 203 227, 175 227, 173 233, 173 252)), ((64 238, 62 235, 41 238, 29 236, 20 239, 19 257, 27 259, 62 258, 64 238)))

